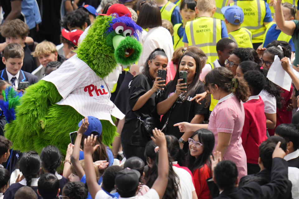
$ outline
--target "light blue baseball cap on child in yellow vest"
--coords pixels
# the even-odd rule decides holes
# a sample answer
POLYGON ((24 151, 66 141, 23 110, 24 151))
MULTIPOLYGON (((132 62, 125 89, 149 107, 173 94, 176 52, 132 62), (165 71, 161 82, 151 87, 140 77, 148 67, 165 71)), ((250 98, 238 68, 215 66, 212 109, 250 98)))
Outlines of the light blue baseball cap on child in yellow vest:
POLYGON ((221 8, 221 12, 224 14, 224 18, 231 24, 240 25, 244 21, 244 13, 239 6, 225 6, 221 8), (239 20, 239 22, 235 22, 235 20, 239 20))

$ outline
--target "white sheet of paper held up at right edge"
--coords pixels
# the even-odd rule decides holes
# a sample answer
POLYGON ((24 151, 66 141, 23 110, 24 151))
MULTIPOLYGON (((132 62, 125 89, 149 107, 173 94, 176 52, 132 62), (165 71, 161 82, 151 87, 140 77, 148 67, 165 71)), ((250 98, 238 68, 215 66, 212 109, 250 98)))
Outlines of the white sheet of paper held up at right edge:
MULTIPOLYGON (((272 81, 274 84, 282 87, 285 90, 291 90, 292 79, 291 77, 283 70, 281 66, 281 61, 277 55, 274 57, 274 62, 269 68, 267 78, 272 81)), ((291 61, 289 59, 289 67, 292 68, 291 61)))

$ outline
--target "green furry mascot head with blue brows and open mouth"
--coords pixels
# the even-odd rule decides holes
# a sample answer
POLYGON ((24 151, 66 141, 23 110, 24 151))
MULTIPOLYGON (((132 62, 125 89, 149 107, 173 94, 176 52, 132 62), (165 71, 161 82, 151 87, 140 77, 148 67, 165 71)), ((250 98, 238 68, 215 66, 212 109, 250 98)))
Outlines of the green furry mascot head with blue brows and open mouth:
POLYGON ((77 56, 101 78, 108 76, 117 63, 128 66, 139 59, 142 28, 128 16, 97 16, 77 50, 77 56))

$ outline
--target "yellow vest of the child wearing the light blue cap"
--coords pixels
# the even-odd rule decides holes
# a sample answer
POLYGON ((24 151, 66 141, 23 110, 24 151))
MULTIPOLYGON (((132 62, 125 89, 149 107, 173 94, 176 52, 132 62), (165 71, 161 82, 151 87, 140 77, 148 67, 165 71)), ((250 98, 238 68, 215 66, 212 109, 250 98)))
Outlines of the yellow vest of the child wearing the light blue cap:
POLYGON ((236 42, 238 48, 253 48, 252 33, 247 28, 240 28, 228 34, 228 38, 236 42))

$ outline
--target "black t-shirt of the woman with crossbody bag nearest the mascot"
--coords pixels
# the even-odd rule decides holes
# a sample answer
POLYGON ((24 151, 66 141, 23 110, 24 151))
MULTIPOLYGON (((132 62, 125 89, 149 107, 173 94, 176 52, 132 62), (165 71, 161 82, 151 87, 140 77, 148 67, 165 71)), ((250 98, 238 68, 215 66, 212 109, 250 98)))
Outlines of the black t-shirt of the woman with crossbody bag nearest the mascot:
POLYGON ((139 115, 141 119, 148 117, 159 118, 156 109, 156 95, 152 95, 150 99, 137 111, 132 111, 140 96, 144 95, 153 86, 153 80, 140 74, 133 78, 129 84, 129 105, 130 111, 126 114, 126 121, 121 132, 121 141, 128 145, 145 146, 150 137, 143 135, 141 132, 140 121, 137 118, 139 115))

